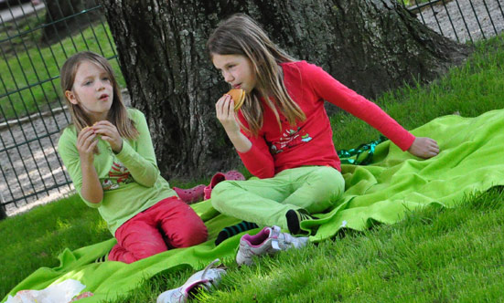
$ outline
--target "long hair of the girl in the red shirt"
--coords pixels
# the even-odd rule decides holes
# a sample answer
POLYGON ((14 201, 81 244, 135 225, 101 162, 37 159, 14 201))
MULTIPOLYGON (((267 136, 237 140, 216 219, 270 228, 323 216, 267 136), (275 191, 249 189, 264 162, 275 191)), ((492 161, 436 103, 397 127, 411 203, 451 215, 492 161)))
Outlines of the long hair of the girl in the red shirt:
POLYGON ((303 110, 285 89, 284 75, 279 66, 279 63, 293 62, 295 59, 277 47, 250 16, 235 14, 222 21, 210 35, 207 48, 210 57, 214 54, 241 55, 252 62, 257 84, 241 106, 241 113, 249 124, 248 129, 241 125, 243 129, 257 135, 263 127, 260 98, 273 110, 279 127, 282 124, 277 107, 291 125, 296 120, 306 120, 303 110))

